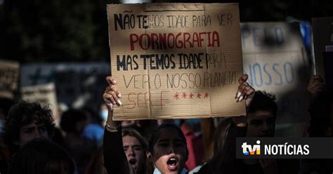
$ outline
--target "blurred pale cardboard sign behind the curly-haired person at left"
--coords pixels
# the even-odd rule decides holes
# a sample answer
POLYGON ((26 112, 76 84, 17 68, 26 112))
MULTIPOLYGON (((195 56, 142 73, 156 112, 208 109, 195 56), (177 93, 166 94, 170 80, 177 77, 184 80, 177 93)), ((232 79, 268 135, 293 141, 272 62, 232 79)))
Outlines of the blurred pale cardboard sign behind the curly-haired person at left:
POLYGON ((53 112, 53 119, 58 123, 58 102, 54 83, 21 88, 22 100, 39 102, 41 106, 48 106, 53 112))

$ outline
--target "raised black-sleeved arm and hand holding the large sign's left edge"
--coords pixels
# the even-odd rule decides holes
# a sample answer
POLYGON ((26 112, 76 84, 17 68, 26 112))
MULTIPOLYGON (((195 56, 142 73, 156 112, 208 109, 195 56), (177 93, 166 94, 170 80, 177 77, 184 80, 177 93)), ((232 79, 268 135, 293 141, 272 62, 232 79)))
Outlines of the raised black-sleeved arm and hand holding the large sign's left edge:
POLYGON ((113 105, 119 105, 119 98, 121 95, 115 88, 115 79, 108 76, 107 82, 110 85, 107 86, 103 94, 103 100, 109 111, 106 123, 108 126, 119 128, 117 130, 111 130, 108 126, 105 126, 103 139, 104 166, 107 173, 129 174, 129 164, 122 144, 122 128, 120 126, 120 121, 112 120, 113 105))

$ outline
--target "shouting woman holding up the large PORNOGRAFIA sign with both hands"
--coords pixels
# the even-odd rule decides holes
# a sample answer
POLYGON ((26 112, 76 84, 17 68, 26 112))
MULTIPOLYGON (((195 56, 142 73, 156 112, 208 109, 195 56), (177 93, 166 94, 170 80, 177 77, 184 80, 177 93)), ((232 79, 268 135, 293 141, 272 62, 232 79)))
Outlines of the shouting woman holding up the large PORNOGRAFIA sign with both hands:
MULTIPOLYGON (((238 99, 240 96, 249 98, 254 93, 253 88, 245 82, 246 80, 247 75, 243 75, 239 80, 238 99)), ((117 91, 115 79, 108 76, 107 82, 110 85, 107 86, 103 94, 103 100, 109 109, 103 143, 104 165, 108 173, 130 173, 130 170, 133 171, 133 169, 129 168, 128 163, 125 162, 126 155, 122 152, 121 123, 112 120, 112 107, 121 103, 121 94, 117 91)), ((152 131, 146 155, 148 159, 147 173, 149 174, 187 173, 183 168, 188 159, 185 136, 181 129, 173 124, 162 124, 157 126, 155 131, 152 131)))

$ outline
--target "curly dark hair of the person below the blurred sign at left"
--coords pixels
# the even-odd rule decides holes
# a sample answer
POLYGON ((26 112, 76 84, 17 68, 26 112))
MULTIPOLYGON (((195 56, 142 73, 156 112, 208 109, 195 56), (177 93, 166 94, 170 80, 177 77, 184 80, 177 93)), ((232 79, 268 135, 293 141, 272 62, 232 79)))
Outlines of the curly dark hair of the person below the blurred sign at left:
POLYGON ((20 138, 20 128, 29 123, 44 123, 48 136, 51 137, 54 129, 51 109, 41 107, 38 102, 21 101, 11 107, 4 124, 4 143, 11 152, 18 150, 17 142, 20 138))

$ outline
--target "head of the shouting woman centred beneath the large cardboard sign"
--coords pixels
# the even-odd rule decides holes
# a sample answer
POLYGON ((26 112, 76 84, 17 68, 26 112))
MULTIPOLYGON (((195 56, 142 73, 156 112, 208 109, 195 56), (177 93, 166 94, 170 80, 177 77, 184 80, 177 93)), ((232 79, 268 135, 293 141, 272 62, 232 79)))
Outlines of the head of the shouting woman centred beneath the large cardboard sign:
POLYGON ((152 159, 155 167, 161 173, 181 173, 188 159, 186 140, 181 130, 164 127, 151 139, 152 147, 148 147, 147 157, 152 159))

